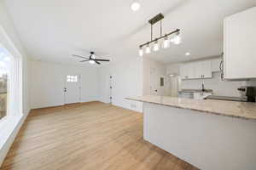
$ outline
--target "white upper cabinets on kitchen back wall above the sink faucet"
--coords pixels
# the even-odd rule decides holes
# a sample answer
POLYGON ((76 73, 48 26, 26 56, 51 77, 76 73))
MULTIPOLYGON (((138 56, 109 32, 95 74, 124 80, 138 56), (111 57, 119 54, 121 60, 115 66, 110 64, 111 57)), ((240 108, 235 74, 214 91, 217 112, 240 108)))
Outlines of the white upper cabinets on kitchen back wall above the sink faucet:
POLYGON ((211 61, 196 61, 181 65, 182 79, 212 78, 211 61))

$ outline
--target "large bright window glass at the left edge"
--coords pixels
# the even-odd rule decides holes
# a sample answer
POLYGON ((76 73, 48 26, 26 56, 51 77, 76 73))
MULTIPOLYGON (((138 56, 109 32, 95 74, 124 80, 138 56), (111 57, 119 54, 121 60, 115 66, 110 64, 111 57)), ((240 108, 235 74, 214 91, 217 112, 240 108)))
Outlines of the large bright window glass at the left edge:
POLYGON ((9 66, 10 56, 0 48, 0 119, 7 115, 9 101, 9 66))

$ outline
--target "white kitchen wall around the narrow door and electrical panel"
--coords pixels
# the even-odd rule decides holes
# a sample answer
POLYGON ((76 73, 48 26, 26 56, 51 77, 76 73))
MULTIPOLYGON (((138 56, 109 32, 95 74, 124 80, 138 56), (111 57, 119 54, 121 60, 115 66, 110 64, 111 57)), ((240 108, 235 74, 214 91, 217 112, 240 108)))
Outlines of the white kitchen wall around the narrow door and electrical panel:
MULTIPOLYGON (((166 76, 166 65, 154 59, 143 57, 143 95, 150 95, 150 79, 152 78, 150 77, 150 71, 152 68, 155 69, 159 81, 160 76, 166 76)), ((160 88, 159 95, 164 95, 164 93, 165 88, 160 88)))

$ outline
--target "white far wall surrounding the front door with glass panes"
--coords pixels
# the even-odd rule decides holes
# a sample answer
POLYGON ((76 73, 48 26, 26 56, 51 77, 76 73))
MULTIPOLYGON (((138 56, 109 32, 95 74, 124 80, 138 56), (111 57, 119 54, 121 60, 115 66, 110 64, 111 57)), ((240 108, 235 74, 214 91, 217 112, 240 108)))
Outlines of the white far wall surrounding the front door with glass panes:
POLYGON ((95 65, 61 65, 31 61, 31 106, 42 108, 64 105, 66 75, 81 75, 81 102, 98 100, 98 68, 95 65))

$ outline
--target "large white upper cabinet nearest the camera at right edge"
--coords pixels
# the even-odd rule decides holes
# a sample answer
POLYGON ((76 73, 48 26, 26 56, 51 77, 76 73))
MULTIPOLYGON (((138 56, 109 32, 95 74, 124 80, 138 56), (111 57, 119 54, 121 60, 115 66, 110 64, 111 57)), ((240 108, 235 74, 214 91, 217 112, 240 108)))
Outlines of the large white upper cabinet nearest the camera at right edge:
POLYGON ((224 20, 224 78, 256 77, 256 7, 224 20))

